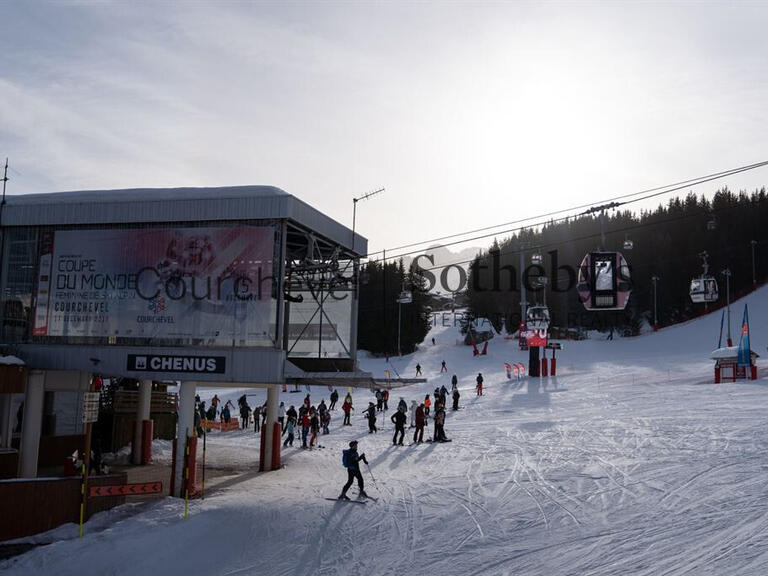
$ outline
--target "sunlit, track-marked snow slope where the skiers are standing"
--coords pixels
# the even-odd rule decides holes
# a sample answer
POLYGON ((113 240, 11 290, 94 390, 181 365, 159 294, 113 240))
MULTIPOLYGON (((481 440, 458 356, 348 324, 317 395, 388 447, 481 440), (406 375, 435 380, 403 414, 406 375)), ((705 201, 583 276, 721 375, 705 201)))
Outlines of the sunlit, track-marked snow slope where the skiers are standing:
MULTIPOLYGON (((736 335, 745 301, 752 348, 764 356, 768 290, 732 306, 736 335)), ((178 499, 127 505, 94 517, 82 540, 72 525, 39 536, 54 543, 0 573, 768 574, 765 360, 757 381, 713 384, 719 325, 716 313, 637 338, 565 342, 557 377, 518 382, 503 365, 527 364, 515 341, 495 338, 488 356, 473 357, 456 344, 452 317, 438 317, 415 354, 361 359, 379 376, 413 377, 419 363, 429 379, 392 392, 377 434, 361 417, 368 390, 354 391, 353 426, 341 426, 337 409, 320 436, 325 448, 297 441, 277 472, 253 472, 252 431, 212 433, 211 457, 240 474, 190 502, 188 518, 178 499), (462 395, 462 409, 448 410, 453 441, 411 445, 406 435, 406 446, 393 446, 399 397, 410 405, 450 389, 453 374, 462 395), (346 480, 341 451, 352 439, 378 502, 326 500, 346 480)), ((200 389, 203 399, 214 392, 242 393, 200 389)), ((266 397, 249 393, 251 405, 266 397)), ((298 406, 304 395, 281 400, 298 406)), ((312 389, 313 403, 328 396, 312 389)))

